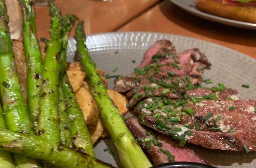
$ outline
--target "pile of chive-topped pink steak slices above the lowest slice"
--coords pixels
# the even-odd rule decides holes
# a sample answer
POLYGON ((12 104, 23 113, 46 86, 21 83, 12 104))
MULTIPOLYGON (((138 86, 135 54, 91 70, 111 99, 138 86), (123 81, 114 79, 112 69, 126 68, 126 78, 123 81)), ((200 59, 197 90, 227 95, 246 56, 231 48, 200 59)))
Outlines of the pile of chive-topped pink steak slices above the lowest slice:
POLYGON ((256 151, 256 101, 240 100, 222 83, 202 87, 204 68, 211 66, 203 53, 194 48, 176 55, 163 41, 144 59, 140 69, 114 81, 140 123, 183 145, 256 151))

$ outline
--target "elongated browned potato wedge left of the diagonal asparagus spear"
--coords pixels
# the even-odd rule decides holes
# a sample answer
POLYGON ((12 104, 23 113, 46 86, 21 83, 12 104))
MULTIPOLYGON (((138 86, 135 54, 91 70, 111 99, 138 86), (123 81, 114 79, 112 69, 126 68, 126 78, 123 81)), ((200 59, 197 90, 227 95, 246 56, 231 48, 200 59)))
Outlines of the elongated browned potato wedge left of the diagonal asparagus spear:
POLYGON ((94 101, 91 93, 84 87, 76 92, 76 99, 84 114, 88 129, 93 129, 99 119, 99 109, 94 101))

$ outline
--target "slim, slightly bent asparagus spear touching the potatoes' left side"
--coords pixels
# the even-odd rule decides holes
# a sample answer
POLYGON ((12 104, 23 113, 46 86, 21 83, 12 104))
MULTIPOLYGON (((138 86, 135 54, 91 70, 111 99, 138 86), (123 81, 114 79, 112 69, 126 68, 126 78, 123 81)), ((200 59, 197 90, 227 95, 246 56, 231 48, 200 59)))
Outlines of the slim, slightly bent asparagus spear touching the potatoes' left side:
MULTIPOLYGON (((68 20, 66 20, 67 22, 68 20)), ((65 24, 65 22, 64 22, 65 24)), ((73 139, 73 143, 76 149, 83 151, 91 156, 94 156, 93 144, 90 139, 90 133, 87 129, 86 122, 84 120, 83 112, 81 111, 79 104, 76 100, 76 95, 73 92, 73 88, 70 85, 70 81, 67 77, 66 67, 66 50, 69 32, 71 30, 66 28, 64 32, 62 51, 61 51, 61 72, 63 79, 61 81, 64 98, 66 101, 67 114, 70 123, 70 133, 73 139)))

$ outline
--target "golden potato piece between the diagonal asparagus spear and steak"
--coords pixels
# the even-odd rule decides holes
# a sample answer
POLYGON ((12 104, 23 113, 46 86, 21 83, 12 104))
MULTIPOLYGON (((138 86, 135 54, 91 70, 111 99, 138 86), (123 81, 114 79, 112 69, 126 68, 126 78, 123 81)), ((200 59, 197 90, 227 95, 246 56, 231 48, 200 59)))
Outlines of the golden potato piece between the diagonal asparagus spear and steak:
POLYGON ((124 115, 126 112, 128 112, 128 109, 126 107, 128 99, 124 95, 121 95, 119 92, 116 92, 114 90, 108 90, 108 95, 112 99, 114 104, 118 107, 119 113, 121 115, 124 115))

